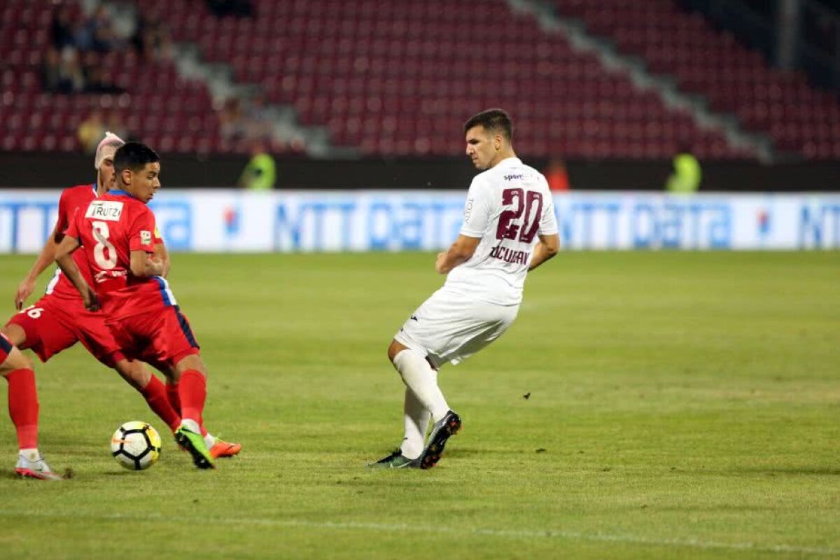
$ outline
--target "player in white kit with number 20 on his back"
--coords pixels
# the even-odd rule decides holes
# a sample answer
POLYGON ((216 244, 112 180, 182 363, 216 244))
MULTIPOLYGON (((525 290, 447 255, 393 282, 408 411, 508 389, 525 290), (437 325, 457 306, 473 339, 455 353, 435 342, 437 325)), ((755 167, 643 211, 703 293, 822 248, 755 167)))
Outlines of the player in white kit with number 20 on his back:
POLYGON ((444 286, 394 336, 388 358, 406 384, 405 437, 372 467, 432 468, 461 419, 438 387, 438 368, 458 364, 501 337, 517 317, 528 271, 557 254, 554 202, 545 177, 522 164, 511 118, 488 109, 464 125, 475 176, 458 238, 438 254, 444 286), (426 443, 428 422, 434 425, 426 443), (425 445, 424 445, 425 444, 425 445))

